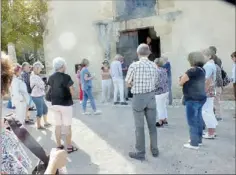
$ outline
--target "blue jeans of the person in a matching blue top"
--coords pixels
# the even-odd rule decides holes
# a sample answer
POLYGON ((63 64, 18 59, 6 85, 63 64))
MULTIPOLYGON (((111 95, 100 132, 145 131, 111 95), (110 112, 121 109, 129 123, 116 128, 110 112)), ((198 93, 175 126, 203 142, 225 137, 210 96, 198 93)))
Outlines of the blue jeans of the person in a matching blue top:
POLYGON ((83 90, 82 108, 83 108, 84 112, 86 111, 88 99, 90 101, 93 111, 96 111, 97 109, 96 109, 95 101, 94 101, 93 94, 92 94, 92 88, 86 88, 83 90))

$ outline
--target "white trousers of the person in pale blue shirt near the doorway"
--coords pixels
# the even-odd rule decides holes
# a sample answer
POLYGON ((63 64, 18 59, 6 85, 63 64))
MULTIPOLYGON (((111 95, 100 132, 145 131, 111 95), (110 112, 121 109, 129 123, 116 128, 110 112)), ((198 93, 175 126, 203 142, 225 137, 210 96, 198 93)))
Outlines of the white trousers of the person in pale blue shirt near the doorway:
POLYGON ((114 85, 114 102, 117 102, 118 93, 120 93, 120 102, 124 102, 124 80, 114 78, 113 85, 114 85))

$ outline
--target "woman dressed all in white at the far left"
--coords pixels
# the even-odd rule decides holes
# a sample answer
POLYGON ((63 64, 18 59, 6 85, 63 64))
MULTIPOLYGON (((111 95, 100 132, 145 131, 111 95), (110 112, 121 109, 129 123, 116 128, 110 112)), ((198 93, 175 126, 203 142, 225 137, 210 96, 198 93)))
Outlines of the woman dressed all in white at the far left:
MULTIPOLYGON (((25 82, 21 79, 22 68, 17 64, 14 68, 14 76, 10 86, 12 105, 16 107, 17 119, 25 124, 27 108, 30 103, 30 96, 27 92, 25 82)), ((29 123, 29 121, 27 121, 29 123)))

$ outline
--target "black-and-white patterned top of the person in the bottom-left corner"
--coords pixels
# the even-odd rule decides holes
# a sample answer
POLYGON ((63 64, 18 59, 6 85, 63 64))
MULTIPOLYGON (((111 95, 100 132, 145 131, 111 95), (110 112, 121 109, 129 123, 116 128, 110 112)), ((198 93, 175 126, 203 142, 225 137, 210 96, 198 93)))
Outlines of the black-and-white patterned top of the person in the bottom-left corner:
POLYGON ((21 147, 14 133, 1 130, 1 174, 28 174, 31 161, 21 147))

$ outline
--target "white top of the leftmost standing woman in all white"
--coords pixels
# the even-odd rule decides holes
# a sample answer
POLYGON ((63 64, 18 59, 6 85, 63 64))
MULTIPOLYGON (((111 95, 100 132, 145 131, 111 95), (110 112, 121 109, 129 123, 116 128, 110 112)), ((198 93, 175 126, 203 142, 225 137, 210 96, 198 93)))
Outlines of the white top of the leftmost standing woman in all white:
POLYGON ((29 104, 30 96, 27 91, 25 82, 19 77, 14 76, 10 86, 10 94, 13 106, 19 102, 29 104))

